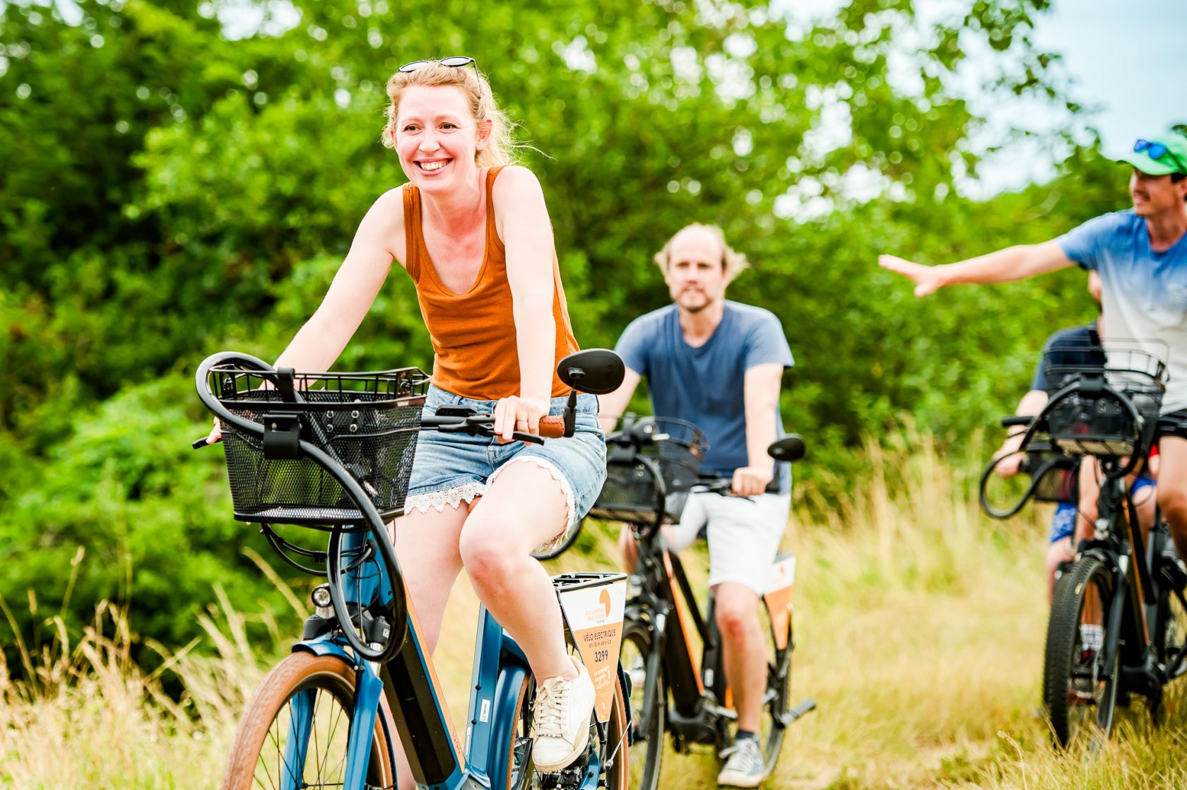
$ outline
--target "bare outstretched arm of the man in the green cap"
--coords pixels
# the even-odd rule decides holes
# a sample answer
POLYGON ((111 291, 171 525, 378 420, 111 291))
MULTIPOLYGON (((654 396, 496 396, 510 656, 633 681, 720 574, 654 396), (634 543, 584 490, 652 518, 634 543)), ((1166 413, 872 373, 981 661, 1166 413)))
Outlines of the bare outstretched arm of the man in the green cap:
POLYGON ((925 266, 895 255, 878 255, 878 265, 915 283, 915 296, 927 296, 946 285, 1013 283, 1071 266, 1074 261, 1056 241, 1007 247, 956 264, 925 266))

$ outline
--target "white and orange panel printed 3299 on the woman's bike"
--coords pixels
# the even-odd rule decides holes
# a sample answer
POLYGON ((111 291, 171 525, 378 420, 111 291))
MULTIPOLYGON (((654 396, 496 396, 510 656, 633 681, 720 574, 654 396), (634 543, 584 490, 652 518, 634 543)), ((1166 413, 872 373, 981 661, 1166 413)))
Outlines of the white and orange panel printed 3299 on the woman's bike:
POLYGON ((560 590, 560 608, 577 643, 577 652, 594 681, 594 713, 599 722, 610 718, 622 645, 622 619, 627 582, 560 590))

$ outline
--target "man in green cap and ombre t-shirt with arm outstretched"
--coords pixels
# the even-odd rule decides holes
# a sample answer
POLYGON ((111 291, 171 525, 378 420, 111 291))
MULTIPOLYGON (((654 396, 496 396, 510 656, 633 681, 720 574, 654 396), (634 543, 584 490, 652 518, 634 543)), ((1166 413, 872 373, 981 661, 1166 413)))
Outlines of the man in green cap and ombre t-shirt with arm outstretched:
MULTIPOLYGON (((1167 354, 1169 379, 1162 413, 1187 418, 1187 138, 1164 134, 1138 140, 1122 158, 1132 166, 1134 208, 1088 220, 1037 245, 1020 245, 942 266, 923 266, 894 255, 878 264, 915 282, 915 296, 945 285, 1008 283, 1077 264, 1100 274, 1104 346, 1125 339, 1159 359, 1167 354), (1145 341, 1145 342, 1143 342, 1145 341), (1154 342, 1150 342, 1154 341, 1154 342)), ((1181 558, 1187 558, 1187 436, 1160 440, 1157 500, 1181 558)), ((1081 464, 1077 538, 1096 518, 1096 466, 1081 464)), ((1181 568, 1181 565, 1180 565, 1181 568)), ((1178 583, 1187 580, 1178 574, 1178 583)))

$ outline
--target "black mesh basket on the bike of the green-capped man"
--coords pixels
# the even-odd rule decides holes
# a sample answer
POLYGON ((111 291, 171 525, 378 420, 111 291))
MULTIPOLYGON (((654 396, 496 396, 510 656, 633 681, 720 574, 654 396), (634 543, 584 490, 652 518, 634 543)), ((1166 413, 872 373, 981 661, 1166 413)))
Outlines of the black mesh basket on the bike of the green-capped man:
POLYGON ((1166 364, 1157 356, 1131 347, 1054 348, 1043 356, 1043 371, 1048 394, 1079 386, 1047 413, 1052 442, 1059 448, 1123 456, 1149 447, 1167 378, 1166 364), (1128 398, 1141 419, 1135 421, 1119 398, 1100 391, 1100 381, 1128 398))

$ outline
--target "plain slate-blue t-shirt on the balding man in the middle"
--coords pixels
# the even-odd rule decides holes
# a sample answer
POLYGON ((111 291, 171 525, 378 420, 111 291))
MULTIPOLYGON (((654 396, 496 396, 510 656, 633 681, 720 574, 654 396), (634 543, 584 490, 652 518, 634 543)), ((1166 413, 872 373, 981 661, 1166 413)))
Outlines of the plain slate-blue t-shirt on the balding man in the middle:
MULTIPOLYGON (((792 367, 792 350, 783 328, 769 310, 725 302, 722 323, 700 347, 684 340, 680 314, 669 304, 630 322, 615 350, 627 367, 643 375, 652 409, 661 417, 694 424, 709 440, 700 468, 732 474, 749 466, 745 448, 743 379, 756 365, 792 367)), ((775 430, 783 435, 779 410, 775 430)), ((782 489, 788 488, 788 464, 780 464, 782 489)))

